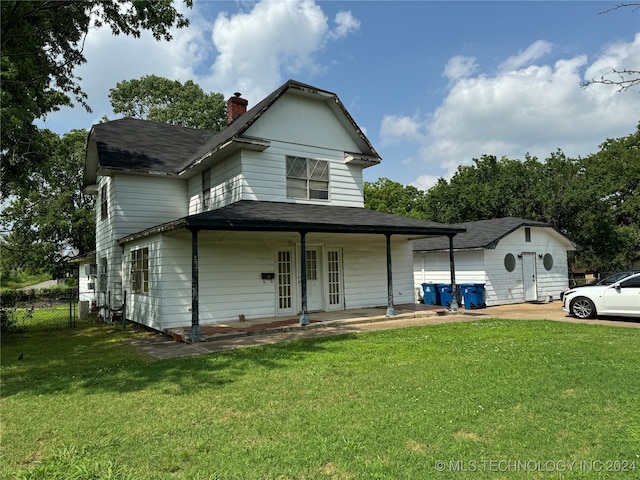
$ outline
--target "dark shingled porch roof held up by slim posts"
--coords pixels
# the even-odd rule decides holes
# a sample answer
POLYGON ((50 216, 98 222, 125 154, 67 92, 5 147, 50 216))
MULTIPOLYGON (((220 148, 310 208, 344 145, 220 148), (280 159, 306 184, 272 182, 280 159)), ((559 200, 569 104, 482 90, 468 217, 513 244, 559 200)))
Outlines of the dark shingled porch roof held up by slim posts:
POLYGON ((321 232, 410 235, 416 238, 453 236, 465 231, 366 208, 241 200, 215 210, 189 215, 120 239, 120 244, 178 229, 253 232, 321 232))

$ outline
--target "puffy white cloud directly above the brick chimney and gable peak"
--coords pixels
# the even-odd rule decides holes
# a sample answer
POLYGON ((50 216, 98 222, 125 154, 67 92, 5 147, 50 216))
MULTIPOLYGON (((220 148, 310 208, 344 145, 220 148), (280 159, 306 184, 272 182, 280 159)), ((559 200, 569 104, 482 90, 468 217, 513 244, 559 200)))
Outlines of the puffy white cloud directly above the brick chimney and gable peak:
POLYGON ((336 15, 336 29, 312 0, 261 1, 248 12, 222 13, 213 25, 218 57, 211 82, 218 91, 240 91, 248 99, 261 99, 286 78, 320 71, 315 55, 327 40, 359 28, 350 12, 336 15))

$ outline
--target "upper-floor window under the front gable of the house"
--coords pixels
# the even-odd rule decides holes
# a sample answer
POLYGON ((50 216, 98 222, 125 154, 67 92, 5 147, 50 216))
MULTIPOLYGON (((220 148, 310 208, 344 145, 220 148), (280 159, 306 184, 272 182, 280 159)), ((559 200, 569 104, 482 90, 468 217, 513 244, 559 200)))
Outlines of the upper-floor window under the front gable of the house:
POLYGON ((287 198, 329 199, 329 162, 287 157, 287 198))

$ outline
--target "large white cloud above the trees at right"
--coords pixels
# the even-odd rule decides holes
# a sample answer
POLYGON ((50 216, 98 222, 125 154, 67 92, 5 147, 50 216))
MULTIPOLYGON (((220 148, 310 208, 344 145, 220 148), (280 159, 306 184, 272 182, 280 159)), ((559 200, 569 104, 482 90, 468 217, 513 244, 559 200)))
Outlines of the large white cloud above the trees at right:
POLYGON ((538 41, 507 59, 497 73, 473 77, 466 72, 474 62, 453 57, 445 75, 457 80, 433 114, 387 115, 381 138, 387 144, 417 142, 424 174, 414 184, 428 188, 437 181, 430 171, 444 170, 448 179, 459 165, 471 164, 483 154, 524 159, 530 153, 544 160, 560 148, 569 156, 584 156, 597 152, 606 138, 635 130, 637 91, 619 93, 603 85, 585 89, 581 83, 583 71, 591 78, 611 68, 637 69, 640 34, 632 42, 609 46, 591 62, 577 55, 553 64, 532 64, 550 53, 550 44, 538 41))

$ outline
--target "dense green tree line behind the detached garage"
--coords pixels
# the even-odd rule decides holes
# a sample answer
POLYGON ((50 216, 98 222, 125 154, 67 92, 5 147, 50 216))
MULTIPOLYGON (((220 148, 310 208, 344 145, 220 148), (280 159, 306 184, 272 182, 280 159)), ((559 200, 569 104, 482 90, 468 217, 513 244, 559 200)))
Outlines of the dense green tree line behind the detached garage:
POLYGON ((365 183, 365 206, 442 223, 520 217, 549 223, 582 246, 573 259, 593 271, 628 268, 640 252, 640 124, 600 151, 544 161, 483 155, 427 192, 388 179, 365 183))

